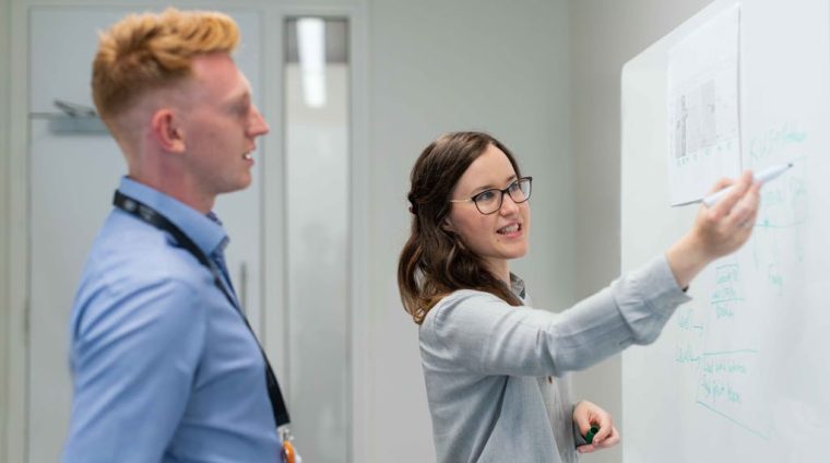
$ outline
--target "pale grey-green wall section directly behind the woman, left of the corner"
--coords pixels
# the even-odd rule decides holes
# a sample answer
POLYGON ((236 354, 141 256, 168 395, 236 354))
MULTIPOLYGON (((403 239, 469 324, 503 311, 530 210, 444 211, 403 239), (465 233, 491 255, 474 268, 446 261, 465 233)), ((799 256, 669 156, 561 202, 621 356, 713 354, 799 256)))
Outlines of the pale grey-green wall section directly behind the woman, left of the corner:
POLYGON ((503 141, 534 176, 531 257, 514 270, 538 305, 573 299, 568 9, 565 0, 369 4, 368 461, 425 462, 435 456, 417 333, 395 283, 410 169, 444 131, 486 130, 503 141))

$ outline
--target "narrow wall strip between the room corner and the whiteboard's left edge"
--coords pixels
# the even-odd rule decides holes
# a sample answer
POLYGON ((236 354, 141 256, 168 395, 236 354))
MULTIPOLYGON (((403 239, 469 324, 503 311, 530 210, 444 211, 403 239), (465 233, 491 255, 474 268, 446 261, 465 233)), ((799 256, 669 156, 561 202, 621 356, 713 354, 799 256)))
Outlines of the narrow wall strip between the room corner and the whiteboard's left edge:
MULTIPOLYGON (((622 64, 710 2, 570 2, 578 297, 605 286, 619 273, 619 78, 622 64)), ((618 417, 622 415, 619 358, 615 356, 580 373, 574 381, 574 389, 584 399, 601 404, 618 417)), ((621 432, 625 446, 625 429, 621 432)), ((589 455, 583 461, 620 462, 621 454, 620 449, 615 449, 589 455)))

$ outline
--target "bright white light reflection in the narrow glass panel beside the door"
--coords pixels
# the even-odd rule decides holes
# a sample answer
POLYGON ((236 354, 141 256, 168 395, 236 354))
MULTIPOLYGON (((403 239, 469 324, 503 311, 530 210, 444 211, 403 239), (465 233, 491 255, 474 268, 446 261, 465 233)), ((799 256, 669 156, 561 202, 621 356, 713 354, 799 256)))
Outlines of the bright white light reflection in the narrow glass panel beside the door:
POLYGON ((325 23, 320 17, 297 20, 297 48, 303 98, 310 108, 325 106, 325 23))

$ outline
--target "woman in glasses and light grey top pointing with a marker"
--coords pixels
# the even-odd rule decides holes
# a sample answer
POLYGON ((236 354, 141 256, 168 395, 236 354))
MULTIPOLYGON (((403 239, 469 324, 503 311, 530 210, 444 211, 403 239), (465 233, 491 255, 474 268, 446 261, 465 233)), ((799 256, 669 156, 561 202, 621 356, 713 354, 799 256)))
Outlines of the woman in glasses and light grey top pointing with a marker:
MULTIPOLYGON (((527 252, 531 177, 490 135, 446 134, 420 154, 398 284, 419 324, 438 462, 572 462, 619 441, 610 416, 571 402, 565 373, 660 334, 683 288, 751 234, 759 185, 745 173, 689 233, 561 314, 529 307, 509 261, 527 252), (588 444, 582 438, 600 427, 588 444)), ((715 188, 731 182, 721 180, 715 188)))

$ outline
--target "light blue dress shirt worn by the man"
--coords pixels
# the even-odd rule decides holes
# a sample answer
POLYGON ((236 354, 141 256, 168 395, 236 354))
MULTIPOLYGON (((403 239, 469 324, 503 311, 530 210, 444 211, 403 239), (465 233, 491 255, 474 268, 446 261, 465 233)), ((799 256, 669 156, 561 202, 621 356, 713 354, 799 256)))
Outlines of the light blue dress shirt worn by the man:
MULTIPOLYGON (((222 226, 124 178, 205 254, 222 226)), ((273 462, 265 366, 238 308, 165 232, 114 210, 72 308, 72 418, 63 462, 273 462)))

